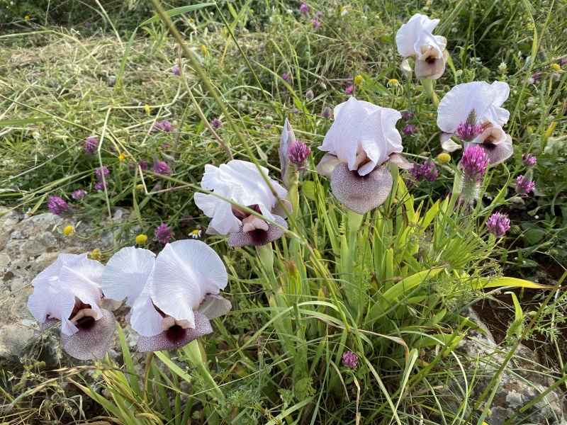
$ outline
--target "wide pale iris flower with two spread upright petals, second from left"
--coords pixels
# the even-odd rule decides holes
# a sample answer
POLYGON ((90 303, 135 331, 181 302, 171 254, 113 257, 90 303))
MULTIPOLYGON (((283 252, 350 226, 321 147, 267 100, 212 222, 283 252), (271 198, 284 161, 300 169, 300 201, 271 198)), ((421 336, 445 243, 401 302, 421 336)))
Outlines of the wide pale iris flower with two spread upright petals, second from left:
POLYGON ((181 348, 210 334, 209 320, 232 307, 218 293, 228 283, 223 261, 204 242, 167 244, 152 251, 128 246, 112 256, 102 276, 105 293, 126 300, 127 319, 140 334, 138 351, 181 348))

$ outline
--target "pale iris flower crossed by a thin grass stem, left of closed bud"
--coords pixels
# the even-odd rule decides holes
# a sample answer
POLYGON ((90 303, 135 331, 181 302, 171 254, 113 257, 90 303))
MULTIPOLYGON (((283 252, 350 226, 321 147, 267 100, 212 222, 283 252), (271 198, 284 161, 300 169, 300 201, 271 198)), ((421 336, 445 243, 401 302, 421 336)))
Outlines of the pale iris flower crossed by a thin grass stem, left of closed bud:
MULTIPOLYGON (((264 174, 268 169, 261 167, 264 174)), ((216 195, 230 199, 254 210, 267 220, 276 222, 287 229, 286 213, 279 200, 291 212, 291 204, 285 200, 287 191, 276 181, 269 179, 276 195, 251 162, 233 160, 228 164, 205 166, 201 187, 216 195)), ((195 193, 195 203, 210 220, 207 234, 228 234, 229 246, 265 245, 283 235, 283 230, 248 211, 232 205, 213 194, 195 193)))

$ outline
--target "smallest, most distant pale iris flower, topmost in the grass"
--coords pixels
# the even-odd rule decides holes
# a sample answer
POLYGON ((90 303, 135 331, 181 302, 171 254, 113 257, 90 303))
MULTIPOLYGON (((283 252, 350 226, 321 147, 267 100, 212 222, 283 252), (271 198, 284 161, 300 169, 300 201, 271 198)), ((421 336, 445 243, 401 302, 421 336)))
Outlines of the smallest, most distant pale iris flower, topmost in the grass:
POLYGON ((439 19, 415 13, 395 34, 398 53, 403 56, 401 69, 408 77, 412 75, 408 64, 410 57, 415 61, 415 77, 418 79, 438 79, 445 72, 449 56, 445 50, 447 38, 432 34, 437 24, 439 19))

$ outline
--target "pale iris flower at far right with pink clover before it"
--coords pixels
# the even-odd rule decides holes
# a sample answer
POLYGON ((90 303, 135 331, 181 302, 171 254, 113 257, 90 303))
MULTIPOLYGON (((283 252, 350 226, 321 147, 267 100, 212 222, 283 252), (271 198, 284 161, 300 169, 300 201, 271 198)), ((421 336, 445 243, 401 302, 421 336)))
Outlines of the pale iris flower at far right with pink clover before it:
POLYGON ((449 152, 459 149, 459 145, 451 141, 451 136, 456 135, 462 147, 469 143, 480 145, 492 166, 510 158, 514 152, 512 137, 502 128, 510 117, 502 108, 508 94, 510 87, 501 81, 493 84, 473 81, 454 86, 442 98, 437 110, 443 149, 449 152))

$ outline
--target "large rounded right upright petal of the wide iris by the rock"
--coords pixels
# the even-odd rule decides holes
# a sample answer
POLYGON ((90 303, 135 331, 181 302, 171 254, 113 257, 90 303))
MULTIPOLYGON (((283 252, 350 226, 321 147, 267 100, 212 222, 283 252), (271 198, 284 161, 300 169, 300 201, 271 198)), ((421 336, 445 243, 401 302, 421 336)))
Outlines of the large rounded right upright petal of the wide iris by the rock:
POLYGON ((196 240, 179 242, 168 244, 157 256, 151 295, 159 310, 195 327, 193 310, 207 294, 223 290, 228 275, 210 246, 196 240))

